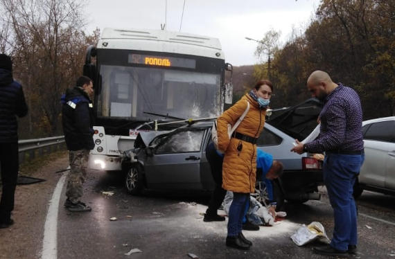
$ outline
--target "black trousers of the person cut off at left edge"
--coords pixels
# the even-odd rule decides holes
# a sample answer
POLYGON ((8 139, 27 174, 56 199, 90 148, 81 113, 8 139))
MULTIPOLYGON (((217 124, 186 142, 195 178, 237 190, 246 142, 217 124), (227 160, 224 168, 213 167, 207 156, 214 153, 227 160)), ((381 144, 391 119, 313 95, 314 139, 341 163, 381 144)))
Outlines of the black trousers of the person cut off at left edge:
POLYGON ((0 143, 1 182, 3 192, 0 202, 0 222, 9 222, 14 209, 14 195, 17 187, 19 157, 18 143, 0 143))

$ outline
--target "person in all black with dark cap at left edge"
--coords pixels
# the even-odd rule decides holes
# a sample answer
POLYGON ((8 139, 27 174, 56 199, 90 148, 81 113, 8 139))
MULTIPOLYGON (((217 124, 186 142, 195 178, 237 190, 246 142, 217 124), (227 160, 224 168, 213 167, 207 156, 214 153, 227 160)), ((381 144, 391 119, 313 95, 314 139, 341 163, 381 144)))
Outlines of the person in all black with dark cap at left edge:
POLYGON ((15 188, 17 186, 18 134, 17 116, 28 113, 21 84, 12 78, 12 61, 8 55, 0 54, 0 163, 3 192, 0 202, 0 229, 7 228, 14 221, 15 188))

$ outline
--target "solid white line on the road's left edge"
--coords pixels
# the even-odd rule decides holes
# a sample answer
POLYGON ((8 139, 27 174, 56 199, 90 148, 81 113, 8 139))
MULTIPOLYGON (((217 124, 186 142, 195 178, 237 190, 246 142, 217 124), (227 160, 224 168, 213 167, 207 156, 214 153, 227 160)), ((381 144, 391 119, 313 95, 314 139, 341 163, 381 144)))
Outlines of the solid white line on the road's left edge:
POLYGON ((62 188, 66 181, 67 172, 60 177, 49 201, 48 213, 44 224, 44 240, 42 241, 42 259, 56 259, 58 257, 58 208, 62 188))

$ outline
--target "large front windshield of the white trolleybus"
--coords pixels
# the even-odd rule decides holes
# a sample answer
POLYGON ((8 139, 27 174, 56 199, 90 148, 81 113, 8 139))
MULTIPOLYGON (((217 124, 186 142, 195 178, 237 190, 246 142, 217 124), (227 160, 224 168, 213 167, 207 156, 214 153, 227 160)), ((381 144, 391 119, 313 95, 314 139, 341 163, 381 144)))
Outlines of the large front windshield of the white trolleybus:
POLYGON ((220 115, 220 74, 102 65, 100 75, 98 116, 149 120, 220 115))

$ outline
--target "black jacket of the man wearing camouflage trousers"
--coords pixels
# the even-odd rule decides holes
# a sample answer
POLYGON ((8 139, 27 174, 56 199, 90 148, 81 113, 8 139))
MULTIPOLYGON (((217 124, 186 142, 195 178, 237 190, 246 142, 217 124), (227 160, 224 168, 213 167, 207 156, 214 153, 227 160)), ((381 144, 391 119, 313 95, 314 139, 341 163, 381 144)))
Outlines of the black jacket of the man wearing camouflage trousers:
POLYGON ((93 105, 85 91, 78 87, 67 89, 62 96, 62 123, 68 150, 92 150, 93 105))

